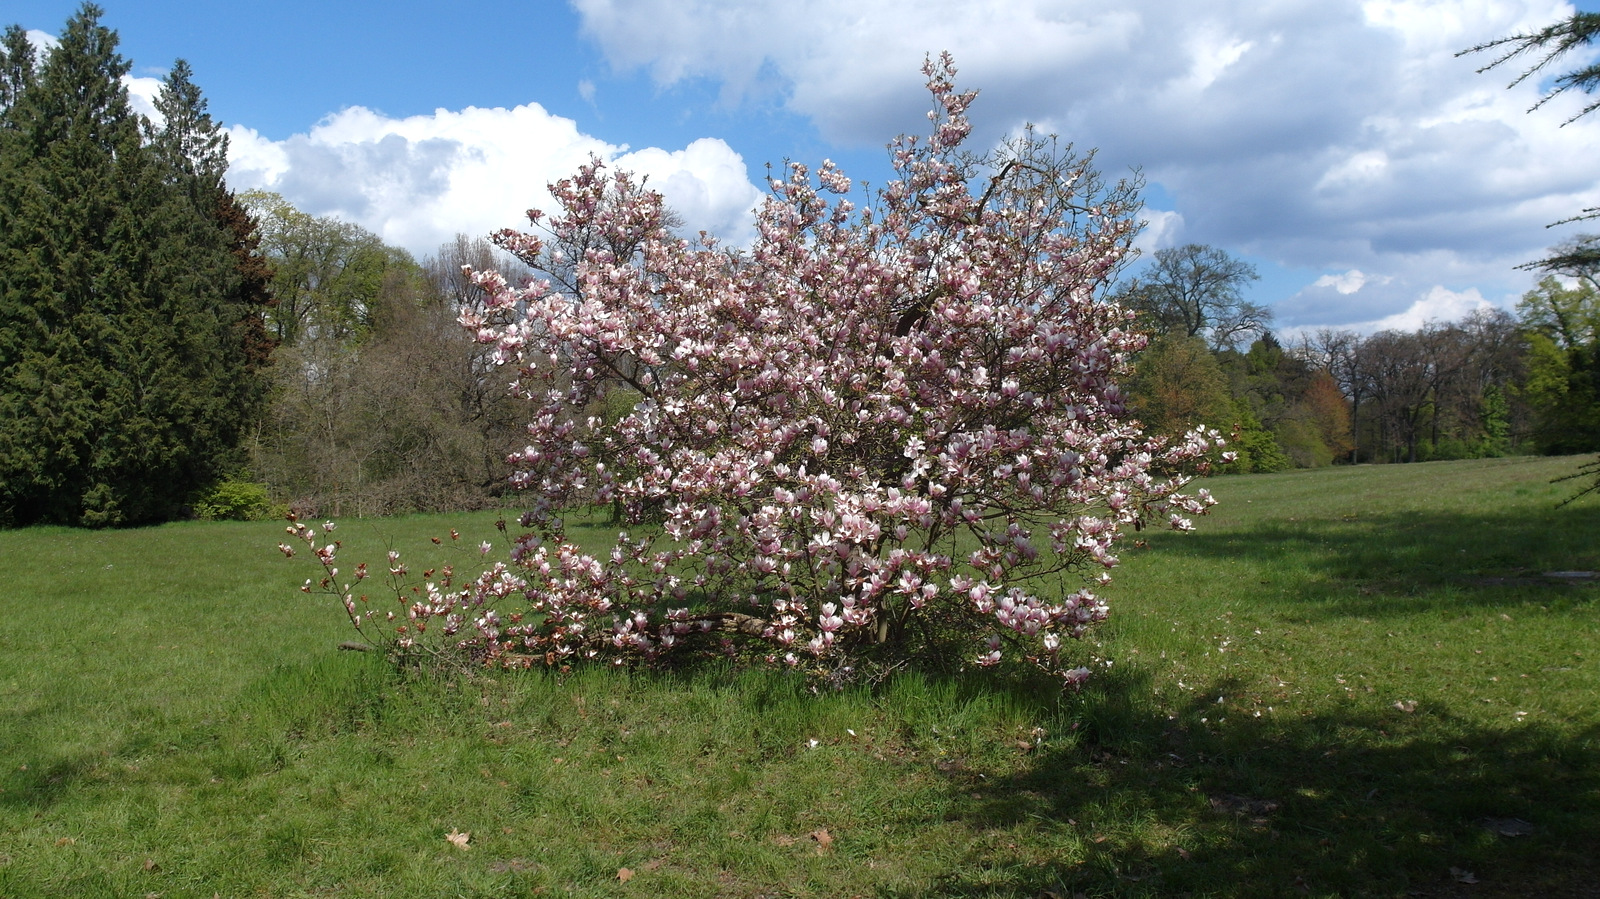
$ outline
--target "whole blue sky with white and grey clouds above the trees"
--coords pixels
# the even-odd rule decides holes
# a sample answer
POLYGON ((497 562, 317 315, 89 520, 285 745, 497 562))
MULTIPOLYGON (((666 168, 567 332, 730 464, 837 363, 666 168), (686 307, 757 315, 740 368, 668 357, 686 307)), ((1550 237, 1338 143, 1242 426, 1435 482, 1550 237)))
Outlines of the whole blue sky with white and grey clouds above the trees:
MULTIPOLYGON (((138 78, 189 59, 235 187, 419 256, 520 224, 590 154, 742 240, 770 162, 882 182, 938 50, 982 91, 979 141, 1034 122, 1107 174, 1139 166, 1142 246, 1245 256, 1285 330, 1507 306, 1531 285, 1514 266, 1581 230, 1544 226, 1600 205, 1600 115, 1562 128, 1578 98, 1530 115, 1538 85, 1453 58, 1568 16, 1555 0, 102 5, 138 78)), ((75 8, 0 16, 56 34, 75 8)))

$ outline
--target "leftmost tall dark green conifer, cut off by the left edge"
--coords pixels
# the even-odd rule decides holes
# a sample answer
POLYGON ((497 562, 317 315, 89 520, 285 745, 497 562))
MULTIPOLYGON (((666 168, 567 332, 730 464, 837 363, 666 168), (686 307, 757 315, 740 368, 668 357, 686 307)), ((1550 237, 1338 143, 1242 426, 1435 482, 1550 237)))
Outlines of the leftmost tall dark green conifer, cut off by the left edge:
POLYGON ((128 392, 114 331, 133 291, 115 256, 144 155, 128 64, 98 18, 80 10, 6 109, 0 512, 19 523, 114 505, 94 445, 128 392))

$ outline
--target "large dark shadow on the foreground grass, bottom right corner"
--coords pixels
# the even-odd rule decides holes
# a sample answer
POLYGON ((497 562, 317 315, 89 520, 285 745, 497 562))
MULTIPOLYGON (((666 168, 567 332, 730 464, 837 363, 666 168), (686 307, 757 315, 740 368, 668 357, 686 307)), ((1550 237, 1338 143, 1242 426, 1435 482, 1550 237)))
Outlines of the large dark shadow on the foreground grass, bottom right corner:
POLYGON ((893 896, 1600 896, 1600 723, 1218 720, 1210 699, 1149 696, 1107 673, 1019 774, 952 774, 954 816, 997 837, 934 891, 893 896))

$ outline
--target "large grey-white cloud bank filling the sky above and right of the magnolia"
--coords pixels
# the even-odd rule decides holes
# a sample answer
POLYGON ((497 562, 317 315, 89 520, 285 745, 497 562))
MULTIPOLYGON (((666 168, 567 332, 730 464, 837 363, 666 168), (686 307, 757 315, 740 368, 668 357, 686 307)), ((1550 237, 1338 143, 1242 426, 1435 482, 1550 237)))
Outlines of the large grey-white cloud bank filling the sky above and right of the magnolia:
POLYGON ((925 125, 918 66, 949 50, 982 90, 981 141, 1038 123, 1106 171, 1142 166, 1181 200, 1186 242, 1371 280, 1286 325, 1405 314, 1422 285, 1517 293, 1514 266, 1565 237, 1544 226, 1600 205, 1600 114, 1562 128, 1581 96, 1530 115, 1539 85, 1506 86, 1520 69, 1454 56, 1570 16, 1560 0, 573 5, 619 70, 762 94, 861 146, 925 125))

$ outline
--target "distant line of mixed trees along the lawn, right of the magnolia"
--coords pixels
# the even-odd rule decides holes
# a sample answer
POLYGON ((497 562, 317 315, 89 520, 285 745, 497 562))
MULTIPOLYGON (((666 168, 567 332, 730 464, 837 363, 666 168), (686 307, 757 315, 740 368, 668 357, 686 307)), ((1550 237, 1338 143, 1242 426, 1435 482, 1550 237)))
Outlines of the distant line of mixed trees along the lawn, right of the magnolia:
POLYGON ((1483 309, 1416 331, 1323 328, 1288 346, 1246 302, 1248 262, 1158 250, 1120 290, 1152 334, 1128 382, 1144 424, 1235 435, 1238 470, 1419 462, 1600 448, 1600 237, 1541 262, 1515 314, 1483 309))

